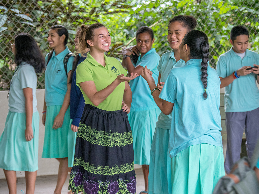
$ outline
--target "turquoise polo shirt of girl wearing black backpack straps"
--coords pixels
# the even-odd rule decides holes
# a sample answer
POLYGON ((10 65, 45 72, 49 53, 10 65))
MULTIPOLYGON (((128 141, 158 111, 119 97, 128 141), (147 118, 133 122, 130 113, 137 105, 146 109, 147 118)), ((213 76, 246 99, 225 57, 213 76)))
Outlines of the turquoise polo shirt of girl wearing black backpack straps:
MULTIPOLYGON (((58 55, 55 50, 45 70, 45 101, 47 106, 62 105, 67 92, 67 75, 64 69, 64 57, 71 53, 66 47, 58 55)), ((49 54, 49 53, 48 53, 49 54)), ((47 63, 48 54, 45 57, 47 63)), ((72 70, 74 57, 71 56, 67 63, 67 72, 72 70)))

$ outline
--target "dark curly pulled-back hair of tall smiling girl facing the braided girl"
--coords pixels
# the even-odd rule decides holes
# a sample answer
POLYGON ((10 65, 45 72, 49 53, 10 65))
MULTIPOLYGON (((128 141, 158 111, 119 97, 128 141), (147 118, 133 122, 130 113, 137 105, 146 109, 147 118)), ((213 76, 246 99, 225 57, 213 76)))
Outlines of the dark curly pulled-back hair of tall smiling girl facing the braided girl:
POLYGON ((187 32, 194 29, 197 24, 196 19, 193 16, 175 16, 169 20, 168 26, 175 21, 181 23, 182 26, 187 29, 187 32))

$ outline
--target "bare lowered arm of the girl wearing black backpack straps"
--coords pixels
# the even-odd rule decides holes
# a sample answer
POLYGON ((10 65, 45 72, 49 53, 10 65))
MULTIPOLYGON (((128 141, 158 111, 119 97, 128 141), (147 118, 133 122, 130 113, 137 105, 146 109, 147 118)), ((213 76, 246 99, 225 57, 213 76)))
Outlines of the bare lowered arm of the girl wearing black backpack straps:
MULTIPOLYGON (((67 77, 69 78, 71 75, 71 70, 68 72, 67 77)), ((52 129, 57 129, 62 127, 63 121, 64 121, 64 116, 66 114, 66 111, 68 109, 69 106, 69 101, 70 101, 70 88, 71 88, 71 84, 69 84, 69 79, 67 79, 67 92, 65 94, 64 97, 64 101, 62 103, 61 109, 59 111, 59 114, 57 114, 57 116, 54 119, 54 123, 52 126, 52 129)))

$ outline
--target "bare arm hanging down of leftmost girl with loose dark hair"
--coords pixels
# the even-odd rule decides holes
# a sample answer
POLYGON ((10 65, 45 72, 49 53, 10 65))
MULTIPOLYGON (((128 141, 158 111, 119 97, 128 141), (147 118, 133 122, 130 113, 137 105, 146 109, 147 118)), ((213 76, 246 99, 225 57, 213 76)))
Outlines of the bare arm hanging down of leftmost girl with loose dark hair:
POLYGON ((33 139, 32 130, 32 114, 33 114, 33 96, 32 88, 23 88, 23 94, 25 97, 25 114, 26 114, 26 129, 25 129, 25 139, 26 141, 31 141, 33 139))

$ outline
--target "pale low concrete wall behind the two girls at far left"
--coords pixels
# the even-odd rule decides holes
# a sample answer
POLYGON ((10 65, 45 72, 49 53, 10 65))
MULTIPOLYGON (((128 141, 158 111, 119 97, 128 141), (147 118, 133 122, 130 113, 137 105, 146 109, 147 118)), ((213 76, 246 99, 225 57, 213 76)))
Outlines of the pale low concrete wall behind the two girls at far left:
MULTIPOLYGON (((42 110, 43 110, 43 102, 44 102, 44 89, 37 89, 37 109, 40 114, 40 128, 39 128, 39 155, 38 155, 38 175, 52 175, 57 174, 59 162, 56 159, 48 159, 41 158, 42 149, 43 149, 43 141, 44 141, 44 132, 45 127, 41 122, 42 110)), ((8 114, 8 99, 7 99, 8 91, 0 91, 0 134, 3 133, 4 124, 6 120, 6 116, 8 114)), ((17 177, 24 177, 24 171, 17 171, 17 177)), ((0 178, 5 178, 3 170, 0 169, 0 178)))

